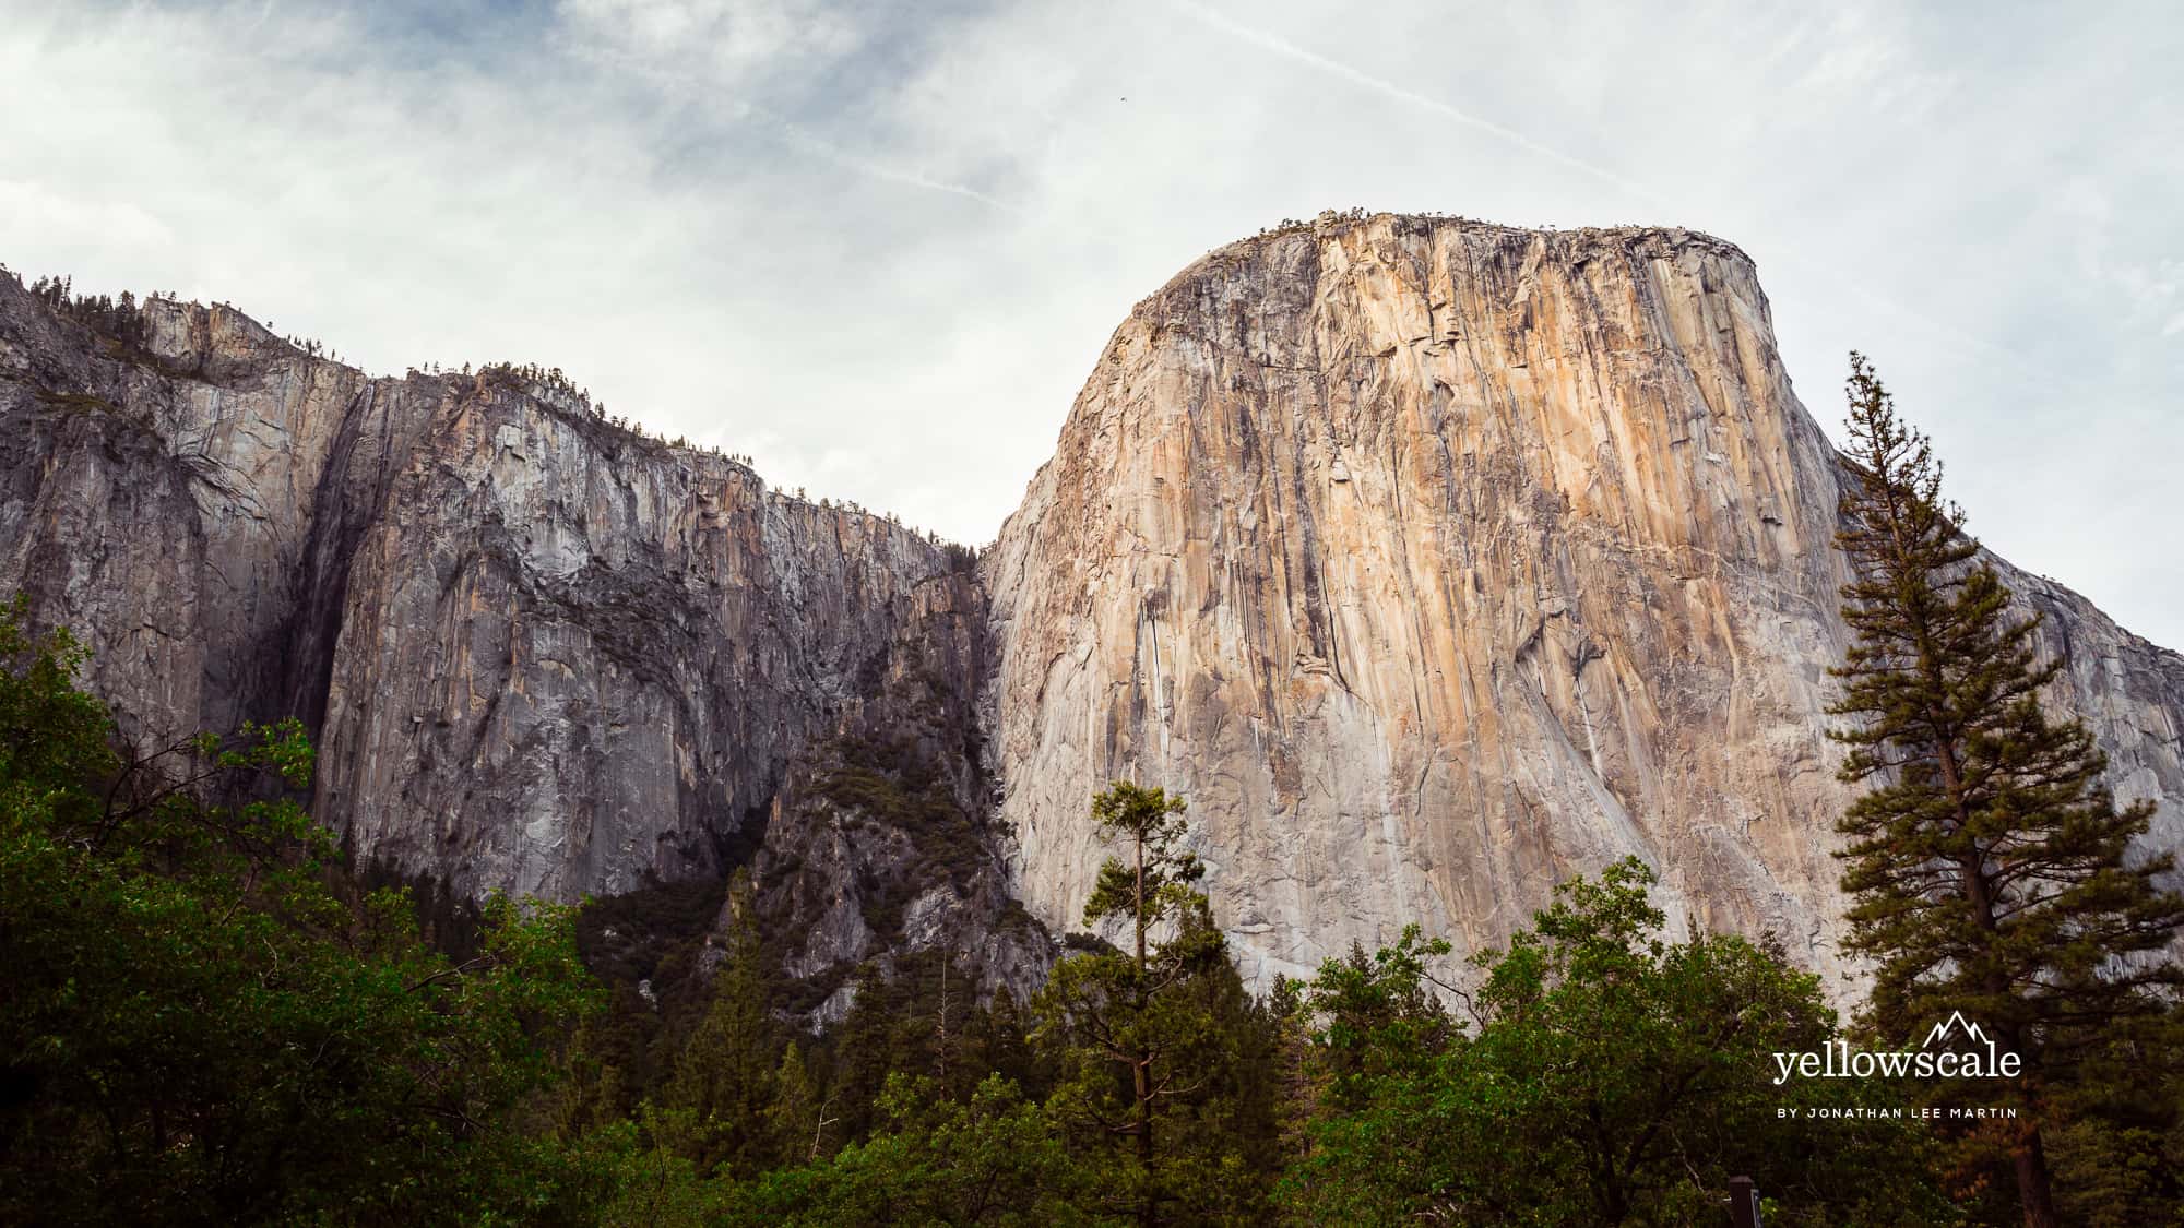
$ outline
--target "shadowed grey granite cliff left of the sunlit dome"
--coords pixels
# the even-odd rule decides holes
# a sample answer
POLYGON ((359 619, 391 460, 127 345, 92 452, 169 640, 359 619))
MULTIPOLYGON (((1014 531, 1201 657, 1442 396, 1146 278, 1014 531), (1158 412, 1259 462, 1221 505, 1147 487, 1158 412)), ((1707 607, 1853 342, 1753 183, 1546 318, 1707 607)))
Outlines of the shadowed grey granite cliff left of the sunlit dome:
POLYGON ((546 374, 365 378, 164 299, 94 330, 7 275, 0 422, 0 588, 90 642, 140 743, 301 717, 360 861, 563 900, 808 863, 769 922, 815 977, 943 937, 994 979, 1044 966, 978 826, 968 551, 546 374), (915 859, 836 876, 839 830, 913 841, 933 806, 808 784, 876 739, 880 784, 978 833, 915 892, 915 859))

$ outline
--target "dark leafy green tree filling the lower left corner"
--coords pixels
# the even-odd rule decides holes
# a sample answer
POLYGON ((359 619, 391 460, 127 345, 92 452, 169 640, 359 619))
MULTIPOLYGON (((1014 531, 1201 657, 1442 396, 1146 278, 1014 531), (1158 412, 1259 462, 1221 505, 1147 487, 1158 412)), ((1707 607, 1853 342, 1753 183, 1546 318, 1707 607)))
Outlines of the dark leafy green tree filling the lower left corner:
POLYGON ((0 610, 0 1221, 548 1221, 520 1130, 594 1003, 563 909, 478 953, 358 898, 293 721, 135 756, 0 610))

